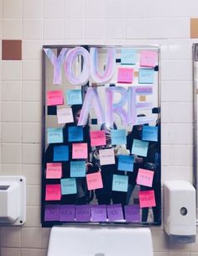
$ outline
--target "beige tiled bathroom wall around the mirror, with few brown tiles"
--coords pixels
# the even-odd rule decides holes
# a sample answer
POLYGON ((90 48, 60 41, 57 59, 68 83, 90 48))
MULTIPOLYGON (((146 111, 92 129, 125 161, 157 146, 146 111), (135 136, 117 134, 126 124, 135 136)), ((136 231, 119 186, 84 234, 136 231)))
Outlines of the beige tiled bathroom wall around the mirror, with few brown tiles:
MULTIPOLYGON (((192 182, 197 0, 0 0, 0 10, 0 174, 27 179, 27 221, 0 228, 1 256, 47 253, 50 229, 40 226, 43 44, 159 44, 162 183, 192 182)), ((198 256, 198 242, 170 243, 163 226, 151 229, 154 256, 198 256)))

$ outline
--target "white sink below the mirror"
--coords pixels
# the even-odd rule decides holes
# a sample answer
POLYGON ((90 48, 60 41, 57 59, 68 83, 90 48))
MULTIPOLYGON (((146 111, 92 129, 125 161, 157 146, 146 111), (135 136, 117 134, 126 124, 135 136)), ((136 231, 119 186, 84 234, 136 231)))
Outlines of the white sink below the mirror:
POLYGON ((149 228, 52 227, 48 256, 154 256, 149 228))

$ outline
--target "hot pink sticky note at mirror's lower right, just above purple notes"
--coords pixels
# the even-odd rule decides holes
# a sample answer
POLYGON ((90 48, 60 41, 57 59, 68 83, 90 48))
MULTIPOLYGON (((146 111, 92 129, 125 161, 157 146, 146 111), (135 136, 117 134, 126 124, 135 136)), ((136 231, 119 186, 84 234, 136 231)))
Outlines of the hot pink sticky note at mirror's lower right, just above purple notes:
POLYGON ((139 191, 139 204, 141 208, 156 206, 154 191, 139 191))

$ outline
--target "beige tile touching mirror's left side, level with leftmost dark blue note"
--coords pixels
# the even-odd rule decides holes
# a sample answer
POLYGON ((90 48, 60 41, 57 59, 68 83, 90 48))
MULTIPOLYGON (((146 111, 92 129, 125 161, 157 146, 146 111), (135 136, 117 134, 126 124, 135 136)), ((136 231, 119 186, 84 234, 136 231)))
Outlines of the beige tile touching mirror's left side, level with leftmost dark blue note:
POLYGON ((23 144, 22 145, 23 164, 41 163, 41 145, 40 144, 23 144))

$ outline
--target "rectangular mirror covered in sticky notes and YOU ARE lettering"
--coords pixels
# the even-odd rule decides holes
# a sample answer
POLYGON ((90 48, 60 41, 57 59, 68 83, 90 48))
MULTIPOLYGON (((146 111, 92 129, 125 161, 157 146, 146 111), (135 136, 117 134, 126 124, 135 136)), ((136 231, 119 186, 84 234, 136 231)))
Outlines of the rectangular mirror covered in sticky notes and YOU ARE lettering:
POLYGON ((161 223, 159 48, 44 46, 42 225, 161 223))

